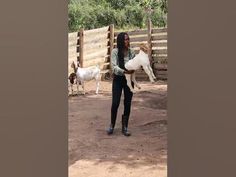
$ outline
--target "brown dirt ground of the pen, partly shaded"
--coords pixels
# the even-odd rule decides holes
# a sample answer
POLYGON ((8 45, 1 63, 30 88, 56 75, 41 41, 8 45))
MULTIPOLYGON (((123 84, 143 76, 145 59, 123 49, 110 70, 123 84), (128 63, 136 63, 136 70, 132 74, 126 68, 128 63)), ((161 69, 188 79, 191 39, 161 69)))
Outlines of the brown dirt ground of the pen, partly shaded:
MULTIPOLYGON (((121 133, 123 96, 115 132, 108 136, 111 81, 85 85, 86 94, 70 96, 69 177, 167 177, 167 83, 139 82, 133 96, 129 130, 121 133)), ((81 89, 80 89, 81 90, 81 89)))

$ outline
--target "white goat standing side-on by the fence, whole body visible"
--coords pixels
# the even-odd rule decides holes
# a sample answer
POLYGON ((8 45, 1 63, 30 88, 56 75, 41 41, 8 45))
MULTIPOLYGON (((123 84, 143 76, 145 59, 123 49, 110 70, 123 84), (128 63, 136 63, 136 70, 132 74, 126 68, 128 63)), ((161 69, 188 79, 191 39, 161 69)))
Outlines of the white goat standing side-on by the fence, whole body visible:
POLYGON ((98 94, 99 85, 100 85, 100 68, 97 65, 96 67, 91 66, 87 68, 81 68, 78 62, 78 67, 75 66, 73 62, 71 67, 76 70, 76 79, 77 79, 77 91, 79 92, 79 83, 81 83, 83 88, 83 94, 85 94, 84 82, 90 81, 92 79, 96 80, 96 94, 98 94))

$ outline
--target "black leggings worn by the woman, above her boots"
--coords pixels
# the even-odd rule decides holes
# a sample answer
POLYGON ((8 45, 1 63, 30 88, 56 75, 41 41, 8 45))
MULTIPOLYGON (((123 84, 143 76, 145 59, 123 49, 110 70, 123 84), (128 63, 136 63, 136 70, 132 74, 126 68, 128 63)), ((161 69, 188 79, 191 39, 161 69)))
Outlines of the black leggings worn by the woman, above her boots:
MULTIPOLYGON (((132 82, 134 87, 134 83, 132 82)), ((112 106, 111 106, 111 125, 115 126, 118 107, 120 105, 120 98, 124 90, 124 113, 123 115, 129 118, 131 101, 133 97, 133 92, 130 91, 127 86, 127 81, 125 76, 114 75, 112 82, 112 106)))

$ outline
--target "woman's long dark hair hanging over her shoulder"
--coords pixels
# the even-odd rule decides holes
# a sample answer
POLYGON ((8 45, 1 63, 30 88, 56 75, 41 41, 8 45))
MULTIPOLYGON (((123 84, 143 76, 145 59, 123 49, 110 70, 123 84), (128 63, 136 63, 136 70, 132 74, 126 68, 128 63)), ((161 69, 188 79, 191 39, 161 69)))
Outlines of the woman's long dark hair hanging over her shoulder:
POLYGON ((124 66, 125 35, 129 36, 127 33, 124 32, 119 33, 117 36, 118 64, 119 67, 122 69, 125 69, 124 66))

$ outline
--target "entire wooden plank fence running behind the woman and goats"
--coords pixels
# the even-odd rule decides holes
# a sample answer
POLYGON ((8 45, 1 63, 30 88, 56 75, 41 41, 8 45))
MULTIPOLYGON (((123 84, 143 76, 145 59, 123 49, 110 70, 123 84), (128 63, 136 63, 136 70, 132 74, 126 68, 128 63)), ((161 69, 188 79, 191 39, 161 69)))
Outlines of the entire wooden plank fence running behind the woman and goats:
MULTIPOLYGON (((127 33, 130 37, 130 46, 136 53, 140 43, 149 43, 152 48, 150 60, 154 74, 158 79, 167 79, 167 28, 133 30, 127 33)), ((69 33, 69 73, 72 72, 70 67, 72 61, 79 61, 82 67, 99 64, 103 74, 109 73, 110 54, 116 46, 118 34, 119 32, 114 31, 113 25, 69 33)), ((137 71, 137 80, 148 80, 148 76, 142 69, 137 71)))

